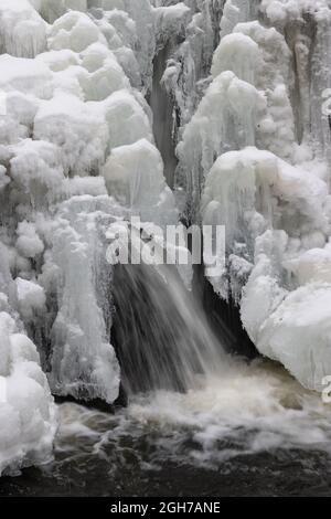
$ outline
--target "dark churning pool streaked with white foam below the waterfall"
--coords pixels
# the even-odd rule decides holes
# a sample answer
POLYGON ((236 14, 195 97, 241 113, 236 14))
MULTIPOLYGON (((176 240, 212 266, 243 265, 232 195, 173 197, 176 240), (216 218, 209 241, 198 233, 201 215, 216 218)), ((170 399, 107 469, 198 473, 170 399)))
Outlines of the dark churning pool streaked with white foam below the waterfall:
POLYGON ((331 406, 278 366, 229 366, 114 415, 61 405, 54 462, 3 478, 0 495, 328 495, 331 406))

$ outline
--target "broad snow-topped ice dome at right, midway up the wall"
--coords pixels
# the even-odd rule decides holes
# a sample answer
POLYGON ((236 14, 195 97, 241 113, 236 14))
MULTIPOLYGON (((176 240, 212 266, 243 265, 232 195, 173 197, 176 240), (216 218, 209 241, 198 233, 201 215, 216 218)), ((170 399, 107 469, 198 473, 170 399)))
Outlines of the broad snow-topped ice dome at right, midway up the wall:
POLYGON ((207 216, 215 202, 231 250, 235 242, 244 242, 253 252, 255 239, 270 227, 299 240, 330 231, 325 182, 254 147, 229 151, 215 161, 205 182, 203 214, 207 216))

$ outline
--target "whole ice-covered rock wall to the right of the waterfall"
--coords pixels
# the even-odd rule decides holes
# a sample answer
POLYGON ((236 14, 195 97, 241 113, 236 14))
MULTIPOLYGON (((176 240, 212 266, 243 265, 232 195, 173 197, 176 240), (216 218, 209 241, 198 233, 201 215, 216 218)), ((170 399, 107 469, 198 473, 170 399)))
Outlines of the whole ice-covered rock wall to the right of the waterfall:
POLYGON ((178 146, 189 219, 226 226, 215 292, 263 354, 317 390, 331 373, 330 15, 327 1, 226 1, 178 146))

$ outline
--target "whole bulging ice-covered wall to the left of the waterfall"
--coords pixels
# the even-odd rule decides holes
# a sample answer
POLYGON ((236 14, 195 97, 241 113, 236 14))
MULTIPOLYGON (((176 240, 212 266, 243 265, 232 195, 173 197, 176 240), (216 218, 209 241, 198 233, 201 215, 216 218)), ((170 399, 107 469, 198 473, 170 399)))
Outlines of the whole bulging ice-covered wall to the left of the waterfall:
POLYGON ((0 473, 50 459, 51 391, 118 396, 107 230, 178 222, 145 99, 156 20, 148 0, 1 2, 0 473))

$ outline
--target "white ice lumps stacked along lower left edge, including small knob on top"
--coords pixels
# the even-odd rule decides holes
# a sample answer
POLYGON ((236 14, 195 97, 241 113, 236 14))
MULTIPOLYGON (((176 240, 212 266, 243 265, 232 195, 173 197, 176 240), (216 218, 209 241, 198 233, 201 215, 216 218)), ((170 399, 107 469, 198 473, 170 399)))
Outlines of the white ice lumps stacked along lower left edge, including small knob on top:
POLYGON ((0 247, 0 474, 51 459, 56 411, 23 319, 44 310, 43 288, 10 273, 0 247), (21 318, 20 318, 21 315, 21 318))

